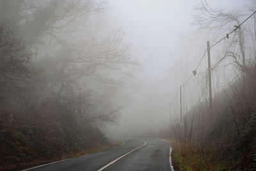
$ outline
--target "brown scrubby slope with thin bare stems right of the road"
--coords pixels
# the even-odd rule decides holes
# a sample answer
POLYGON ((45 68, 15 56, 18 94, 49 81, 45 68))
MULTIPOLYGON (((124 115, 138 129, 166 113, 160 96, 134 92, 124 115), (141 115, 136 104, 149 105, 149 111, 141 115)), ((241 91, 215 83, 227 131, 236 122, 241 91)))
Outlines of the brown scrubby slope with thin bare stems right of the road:
POLYGON ((198 104, 172 128, 173 163, 180 170, 256 168, 256 64, 207 103, 198 104))

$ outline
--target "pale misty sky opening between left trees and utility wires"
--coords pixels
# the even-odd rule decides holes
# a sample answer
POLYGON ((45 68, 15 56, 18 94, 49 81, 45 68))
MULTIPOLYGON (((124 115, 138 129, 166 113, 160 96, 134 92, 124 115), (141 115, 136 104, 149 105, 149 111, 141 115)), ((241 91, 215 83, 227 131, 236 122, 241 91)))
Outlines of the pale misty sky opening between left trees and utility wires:
MULTIPOLYGON (((128 83, 136 86, 138 93, 122 112, 119 125, 112 126, 117 133, 123 130, 134 134, 138 128, 150 131, 168 121, 169 101, 200 60, 206 41, 212 40, 207 33, 200 33, 196 26, 191 26, 193 8, 200 2, 109 0, 109 22, 124 32, 125 42, 141 64, 128 83), (129 128, 131 123, 134 126, 129 128)), ((243 11, 250 3, 249 0, 207 2, 212 8, 225 11, 243 11)), ((214 59, 212 61, 214 63, 214 59)), ((205 67, 204 60, 200 68, 205 67)))

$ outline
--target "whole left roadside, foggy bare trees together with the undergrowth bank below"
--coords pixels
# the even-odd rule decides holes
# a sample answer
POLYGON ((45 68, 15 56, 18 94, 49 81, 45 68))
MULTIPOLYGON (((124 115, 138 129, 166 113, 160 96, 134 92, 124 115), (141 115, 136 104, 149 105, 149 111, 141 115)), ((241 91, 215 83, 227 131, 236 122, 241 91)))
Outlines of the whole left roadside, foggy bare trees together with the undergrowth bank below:
POLYGON ((106 6, 0 1, 0 169, 108 144, 96 126, 136 63, 106 6))

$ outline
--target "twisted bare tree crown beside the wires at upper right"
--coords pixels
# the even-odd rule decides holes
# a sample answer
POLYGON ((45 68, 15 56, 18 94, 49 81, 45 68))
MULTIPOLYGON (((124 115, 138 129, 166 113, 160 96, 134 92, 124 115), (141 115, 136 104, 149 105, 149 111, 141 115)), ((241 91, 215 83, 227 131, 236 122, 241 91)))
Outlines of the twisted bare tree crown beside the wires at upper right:
MULTIPOLYGON (((251 52, 247 48, 251 42, 255 42, 255 35, 253 34, 255 32, 253 27, 255 26, 252 27, 252 24, 247 23, 240 26, 248 14, 250 13, 241 14, 239 11, 226 12, 224 10, 215 10, 207 4, 207 1, 202 1, 195 8, 195 21, 193 22, 200 29, 209 29, 218 35, 212 43, 226 36, 224 56, 220 58, 220 61, 223 61, 226 57, 232 57, 234 64, 242 71, 246 70, 246 61, 250 61, 255 56, 255 54, 251 53, 254 48, 250 50, 251 52), (232 35, 228 34, 230 31, 234 31, 232 35), (248 42, 248 45, 245 42, 248 42)), ((212 44, 212 47, 214 45, 212 44)))

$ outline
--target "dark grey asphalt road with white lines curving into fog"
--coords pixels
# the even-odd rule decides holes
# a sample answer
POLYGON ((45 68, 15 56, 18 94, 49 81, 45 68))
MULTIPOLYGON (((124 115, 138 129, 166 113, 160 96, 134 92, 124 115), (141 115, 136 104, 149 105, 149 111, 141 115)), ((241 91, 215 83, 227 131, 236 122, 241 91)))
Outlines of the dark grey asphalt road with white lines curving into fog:
POLYGON ((119 147, 27 170, 171 170, 167 142, 156 138, 126 138, 123 141, 119 147))

